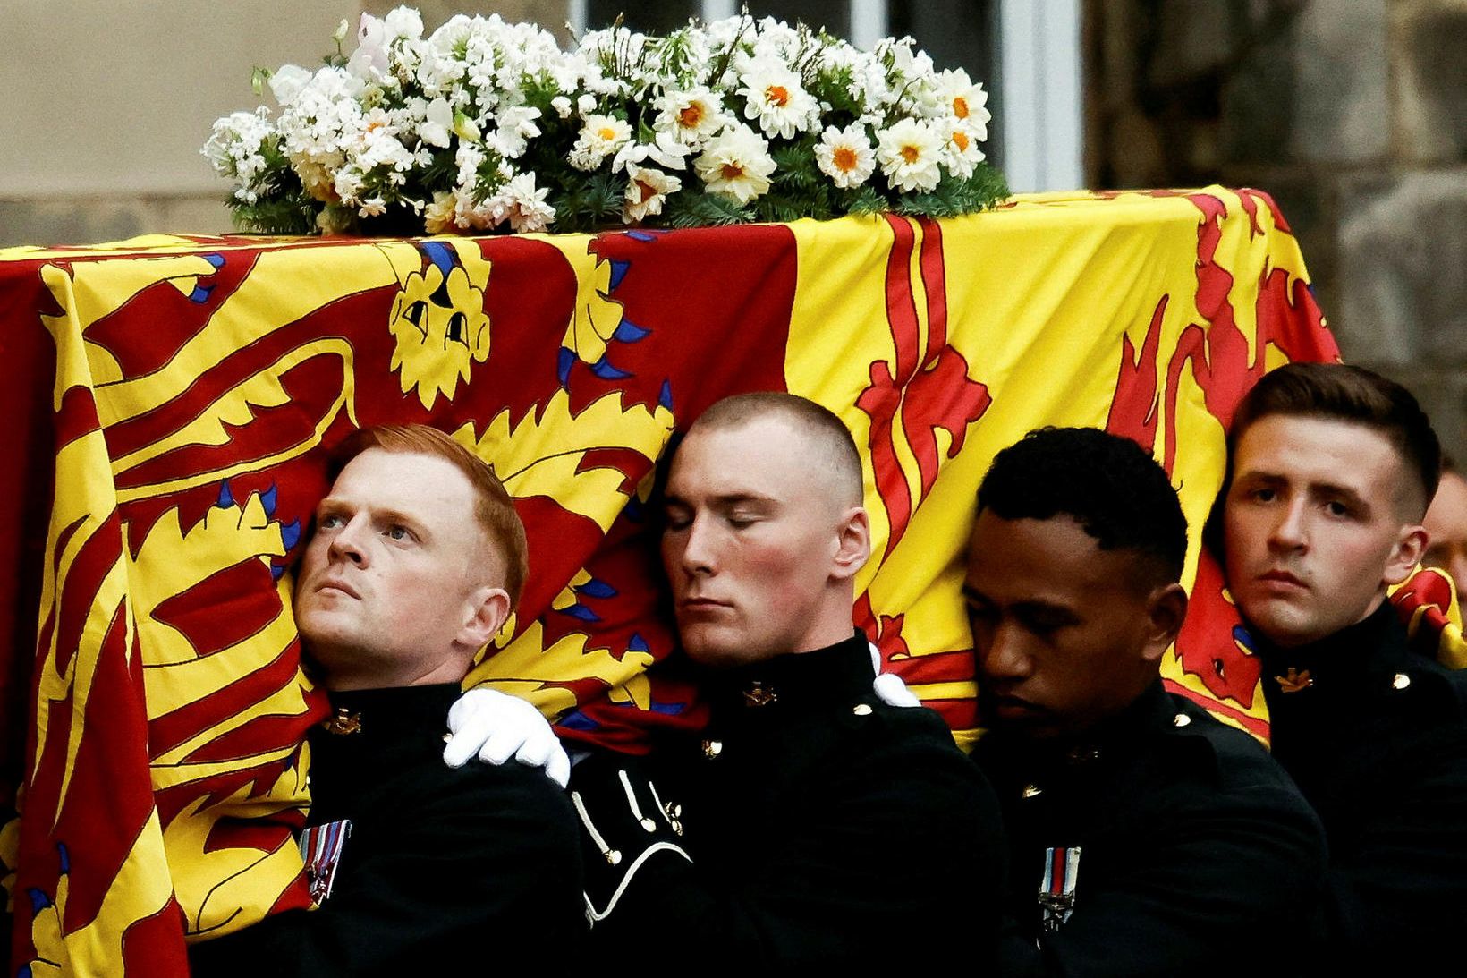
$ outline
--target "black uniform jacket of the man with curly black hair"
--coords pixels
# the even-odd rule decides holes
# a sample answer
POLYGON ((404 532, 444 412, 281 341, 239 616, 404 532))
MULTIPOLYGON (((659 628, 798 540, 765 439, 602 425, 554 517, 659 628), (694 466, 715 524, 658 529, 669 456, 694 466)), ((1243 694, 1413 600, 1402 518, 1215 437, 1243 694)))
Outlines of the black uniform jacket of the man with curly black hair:
POLYGON ((1009 831, 1005 974, 1297 974, 1322 830, 1248 734, 1157 681, 1081 739, 995 730, 974 759, 1009 831), (1042 891, 1055 897, 1052 931, 1042 891))

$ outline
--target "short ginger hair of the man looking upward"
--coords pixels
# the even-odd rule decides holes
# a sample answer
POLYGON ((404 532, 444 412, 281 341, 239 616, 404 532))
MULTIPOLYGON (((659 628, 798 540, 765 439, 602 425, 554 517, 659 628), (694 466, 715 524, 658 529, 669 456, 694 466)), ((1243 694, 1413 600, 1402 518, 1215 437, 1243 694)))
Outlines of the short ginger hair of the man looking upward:
POLYGON ((326 474, 334 480, 351 460, 371 448, 398 455, 431 455, 464 473, 474 488, 474 515, 480 529, 505 564, 509 606, 518 605, 519 595, 525 589, 525 577, 530 574, 530 545, 525 542, 525 524, 521 523, 513 501, 489 463, 436 427, 378 424, 352 432, 332 449, 326 474))

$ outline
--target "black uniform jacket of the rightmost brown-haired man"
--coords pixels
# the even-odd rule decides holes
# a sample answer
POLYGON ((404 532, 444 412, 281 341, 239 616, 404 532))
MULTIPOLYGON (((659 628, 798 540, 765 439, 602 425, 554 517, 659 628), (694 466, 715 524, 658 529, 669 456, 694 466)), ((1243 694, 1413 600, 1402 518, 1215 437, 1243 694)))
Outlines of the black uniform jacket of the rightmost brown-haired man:
POLYGON ((1257 642, 1273 756, 1329 836, 1331 960, 1364 974, 1448 947, 1455 959, 1467 925, 1467 674, 1407 648, 1389 602, 1309 646, 1257 642))

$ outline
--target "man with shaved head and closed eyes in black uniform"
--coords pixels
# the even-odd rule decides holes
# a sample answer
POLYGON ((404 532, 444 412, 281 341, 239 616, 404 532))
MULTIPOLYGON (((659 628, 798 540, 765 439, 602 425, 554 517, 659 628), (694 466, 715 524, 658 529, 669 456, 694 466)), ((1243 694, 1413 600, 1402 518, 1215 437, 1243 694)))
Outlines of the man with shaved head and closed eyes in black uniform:
POLYGON ((990 953, 993 796, 936 714, 874 698, 851 624, 861 485, 841 420, 788 394, 720 401, 678 448, 662 555, 711 720, 575 768, 593 947, 780 974, 990 953))

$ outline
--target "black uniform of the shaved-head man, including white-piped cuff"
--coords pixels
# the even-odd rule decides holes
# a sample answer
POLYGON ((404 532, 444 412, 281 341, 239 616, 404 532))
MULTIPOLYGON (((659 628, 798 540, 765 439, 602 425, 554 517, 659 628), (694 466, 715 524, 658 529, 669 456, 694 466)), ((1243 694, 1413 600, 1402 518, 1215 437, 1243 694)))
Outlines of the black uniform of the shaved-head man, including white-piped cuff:
POLYGON ((992 953, 996 800, 936 714, 874 699, 864 636, 706 689, 707 737, 631 767, 640 819, 626 759, 575 768, 597 957, 866 974, 992 953))

